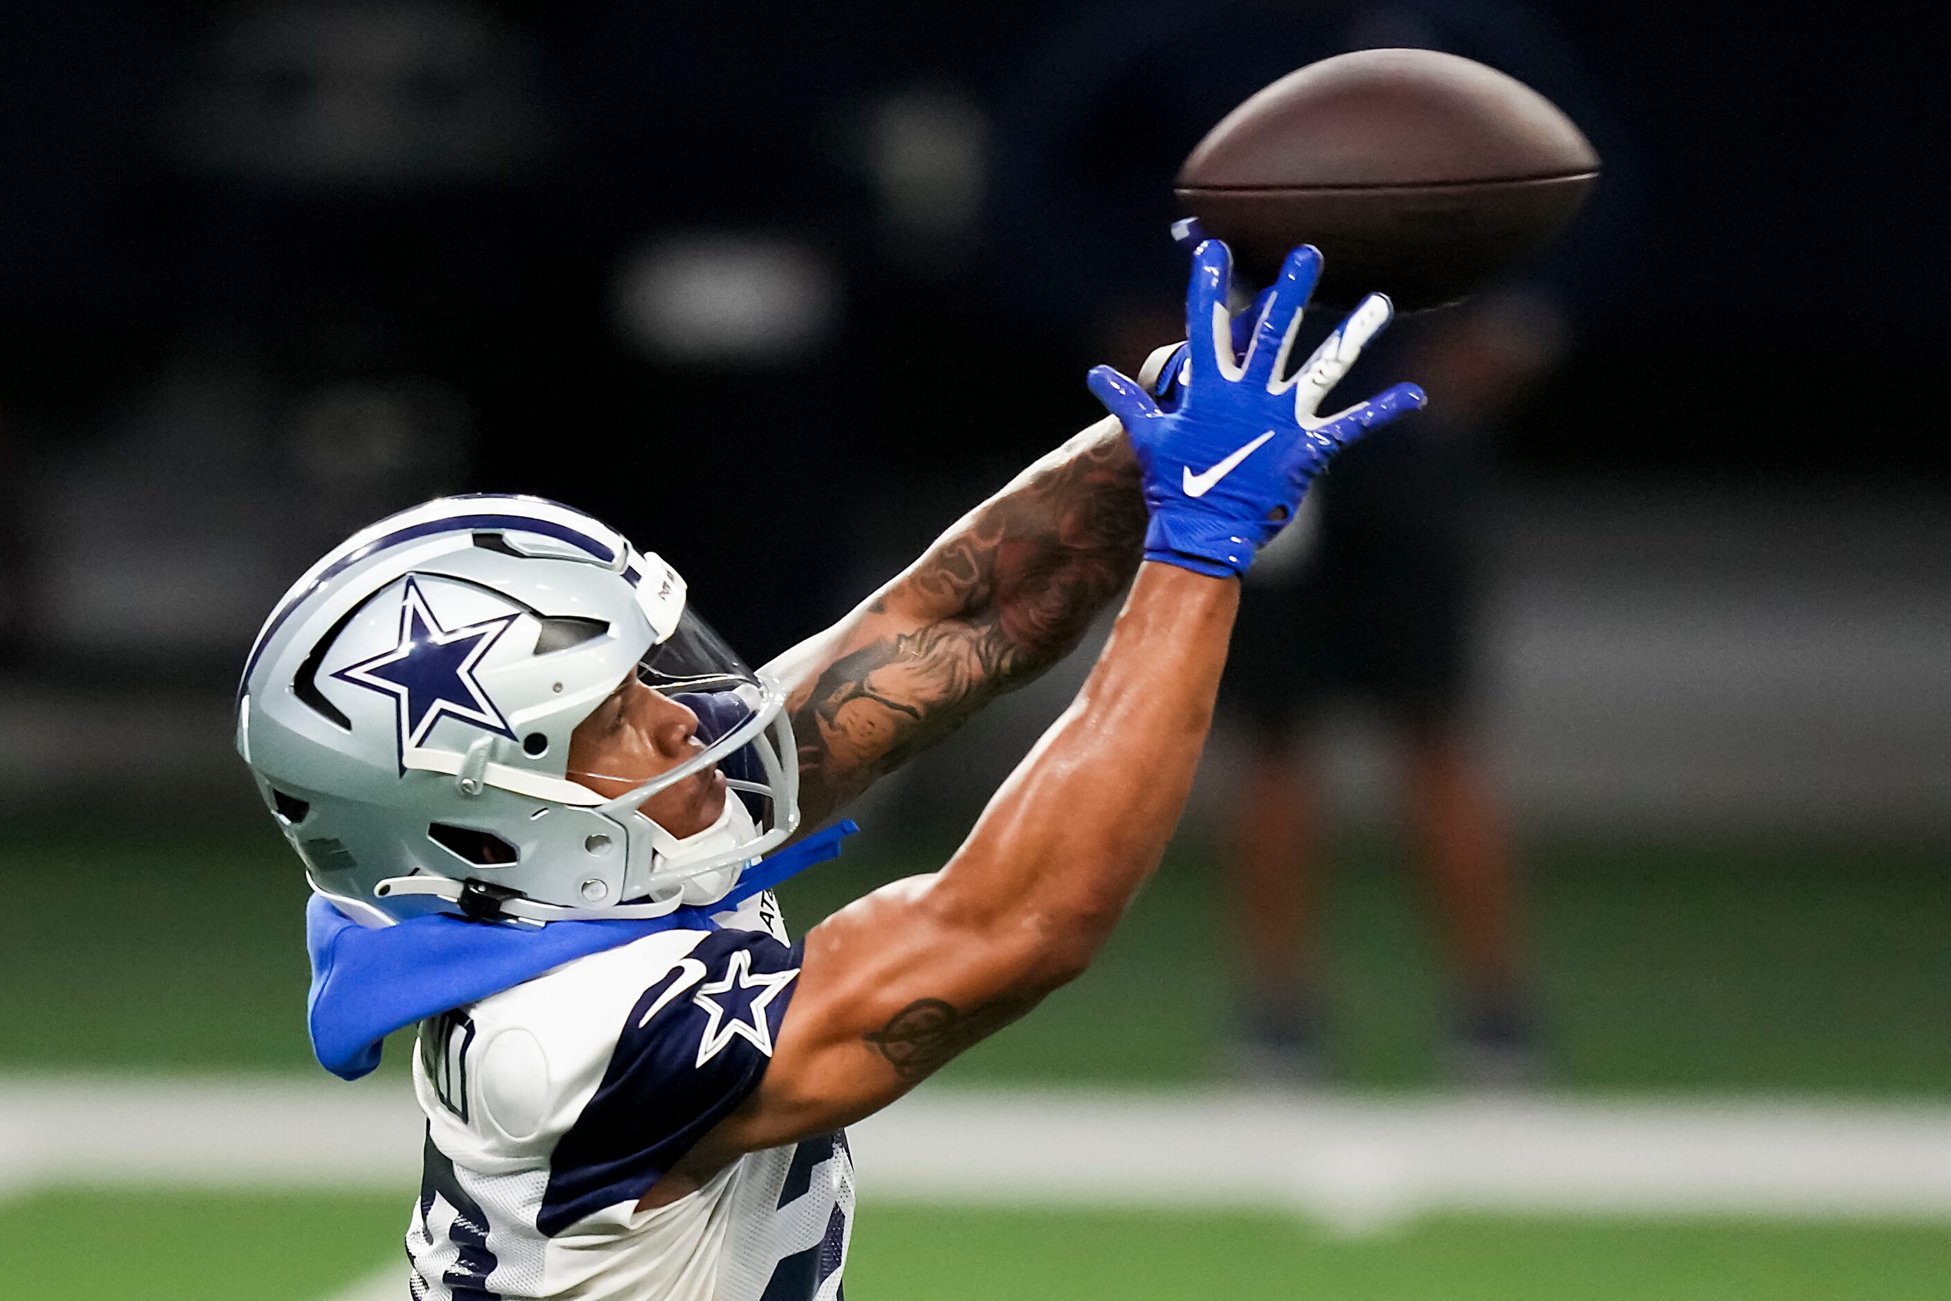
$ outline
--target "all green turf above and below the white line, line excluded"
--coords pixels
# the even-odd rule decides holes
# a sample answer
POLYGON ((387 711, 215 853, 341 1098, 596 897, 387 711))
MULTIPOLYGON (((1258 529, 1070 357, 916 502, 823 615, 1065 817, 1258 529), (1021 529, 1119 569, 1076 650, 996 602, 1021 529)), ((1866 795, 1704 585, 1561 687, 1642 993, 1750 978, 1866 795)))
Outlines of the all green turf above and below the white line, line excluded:
MULTIPOLYGON (((92 823, 0 825, 0 1075, 316 1073, 302 1032, 304 886, 275 833, 244 823, 78 837, 76 825, 92 823)), ((806 926, 946 848, 864 835, 788 887, 788 917, 806 926)), ((1444 1005, 1416 891, 1379 837, 1352 839, 1340 860, 1329 934, 1342 1077, 1434 1083, 1444 1005)), ((1943 1098, 1947 862, 1945 845, 1533 843, 1530 932, 1559 1083, 1943 1098)), ((1182 845, 1085 979, 946 1075, 1208 1079, 1223 954, 1206 854, 1182 845)), ((392 1051, 386 1071, 404 1055, 392 1051)), ((849 1270, 860 1299, 1951 1295, 1951 1223, 1444 1215, 1348 1239, 1278 1213, 888 1205, 870 1184, 866 1198, 849 1270)), ((0 1297, 343 1299, 398 1258, 410 1200, 404 1188, 0 1194, 0 1297)))

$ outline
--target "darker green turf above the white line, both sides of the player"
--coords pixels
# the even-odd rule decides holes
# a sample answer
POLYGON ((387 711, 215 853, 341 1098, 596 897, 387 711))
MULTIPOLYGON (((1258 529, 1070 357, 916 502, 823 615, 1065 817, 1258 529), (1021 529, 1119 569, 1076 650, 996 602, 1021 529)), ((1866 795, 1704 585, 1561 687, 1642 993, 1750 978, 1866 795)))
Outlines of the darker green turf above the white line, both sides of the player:
MULTIPOLYGON (((856 845, 788 886, 788 919, 806 926, 948 848, 856 845)), ((1951 1024, 1951 847, 1557 839, 1528 862, 1557 1083, 1951 1092, 1951 1036, 1920 1030, 1951 1024)), ((1340 1073, 1432 1083, 1444 1008, 1418 897, 1379 839, 1350 843, 1342 864, 1329 923, 1340 1073)), ((0 827, 0 1071, 316 1069, 304 886, 267 825, 80 839, 64 819, 0 827)), ((1223 954, 1204 854, 1178 848, 1093 971, 948 1075, 1204 1079, 1223 954)))

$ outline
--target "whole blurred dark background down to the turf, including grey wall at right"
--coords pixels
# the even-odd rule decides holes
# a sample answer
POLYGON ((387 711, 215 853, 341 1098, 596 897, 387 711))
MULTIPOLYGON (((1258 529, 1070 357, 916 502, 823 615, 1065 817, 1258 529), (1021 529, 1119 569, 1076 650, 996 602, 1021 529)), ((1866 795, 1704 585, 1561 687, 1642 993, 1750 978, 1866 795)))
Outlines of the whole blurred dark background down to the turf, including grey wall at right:
MULTIPOLYGON (((613 519, 771 657, 1098 415, 1083 371, 1178 330, 1178 160, 1364 45, 1608 160, 1498 291, 1541 361, 1469 456, 1520 819, 1951 827, 1933 70, 1732 0, 6 6, 0 811, 248 808, 259 618, 441 492, 613 519)), ((1073 681, 905 811, 972 813, 1073 681)))

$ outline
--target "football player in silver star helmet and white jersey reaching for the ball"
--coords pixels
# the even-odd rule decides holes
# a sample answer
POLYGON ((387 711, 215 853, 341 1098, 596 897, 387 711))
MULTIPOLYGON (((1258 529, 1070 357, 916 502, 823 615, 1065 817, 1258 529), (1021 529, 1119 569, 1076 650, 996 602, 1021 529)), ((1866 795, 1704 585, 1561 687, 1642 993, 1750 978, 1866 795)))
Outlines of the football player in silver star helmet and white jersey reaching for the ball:
POLYGON ((1200 246, 1171 412, 1098 367, 1114 419, 757 673, 667 564, 531 497, 416 507, 293 587, 238 747, 316 891, 320 1061, 357 1077, 419 1026, 412 1297, 841 1295, 845 1125, 1085 969, 1178 821, 1239 575, 1338 447, 1422 402, 1315 414, 1389 320, 1372 296, 1292 369, 1319 265, 1294 252, 1237 353, 1200 246), (833 833, 780 847, 1128 581, 954 858, 792 942, 767 886, 833 833))

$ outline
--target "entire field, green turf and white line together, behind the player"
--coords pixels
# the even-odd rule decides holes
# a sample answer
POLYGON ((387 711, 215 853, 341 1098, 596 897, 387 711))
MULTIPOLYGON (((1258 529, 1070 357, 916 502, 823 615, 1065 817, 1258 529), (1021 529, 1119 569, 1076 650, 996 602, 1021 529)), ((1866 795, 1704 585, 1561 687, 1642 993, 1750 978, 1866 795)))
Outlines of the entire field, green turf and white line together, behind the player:
MULTIPOLYGON (((98 819, 0 825, 0 1295, 404 1295, 404 1045, 363 1086, 310 1063, 304 889, 283 845, 254 823, 76 825, 98 819), (105 889, 84 905, 80 884, 105 889), (398 1106, 306 1125, 308 1088, 398 1106)), ((804 928, 946 848, 860 837, 786 889, 788 917, 804 928)), ((1444 1003, 1416 891, 1385 841, 1340 858, 1333 1055, 1360 1092, 1280 1125, 1202 1092, 1225 942, 1206 856, 1180 847, 1091 973, 944 1071, 944 1092, 856 1131, 849 1295, 1951 1293, 1947 847, 1533 843, 1553 1088, 1502 1114, 1428 1092, 1444 1003), (1182 1114, 1134 1124, 1145 1106, 1182 1114), (905 1135, 872 1131, 897 1114, 905 1135), (1124 1133, 1093 1129, 1120 1114, 1124 1133), (962 1164, 936 1135, 960 1135, 962 1164), (1055 1135, 1071 1157, 1052 1157, 1055 1135), (1258 1155, 1245 1198, 1243 1153, 1258 1155), (1040 1163, 1042 1182, 1007 1161, 1040 1163)))

